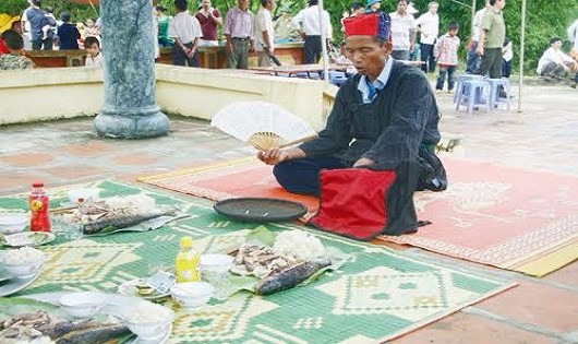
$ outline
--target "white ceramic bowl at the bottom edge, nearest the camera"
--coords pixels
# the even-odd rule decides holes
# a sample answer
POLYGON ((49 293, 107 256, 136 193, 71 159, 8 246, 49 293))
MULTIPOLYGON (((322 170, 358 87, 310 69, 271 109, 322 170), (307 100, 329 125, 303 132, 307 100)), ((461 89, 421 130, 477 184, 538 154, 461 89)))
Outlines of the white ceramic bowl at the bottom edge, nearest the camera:
POLYGON ((174 313, 167 307, 146 305, 136 307, 124 318, 127 327, 139 340, 158 343, 171 330, 174 313))

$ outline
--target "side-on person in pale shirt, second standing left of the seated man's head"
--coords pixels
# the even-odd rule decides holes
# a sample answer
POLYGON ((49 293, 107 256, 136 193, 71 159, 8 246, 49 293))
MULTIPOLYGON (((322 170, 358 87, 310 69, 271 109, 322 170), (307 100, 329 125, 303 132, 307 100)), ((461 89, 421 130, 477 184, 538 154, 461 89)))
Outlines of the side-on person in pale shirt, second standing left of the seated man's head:
POLYGON ((258 54, 258 66, 272 66, 269 56, 275 50, 275 29, 270 12, 275 7, 274 0, 261 0, 261 9, 255 15, 255 50, 258 54))

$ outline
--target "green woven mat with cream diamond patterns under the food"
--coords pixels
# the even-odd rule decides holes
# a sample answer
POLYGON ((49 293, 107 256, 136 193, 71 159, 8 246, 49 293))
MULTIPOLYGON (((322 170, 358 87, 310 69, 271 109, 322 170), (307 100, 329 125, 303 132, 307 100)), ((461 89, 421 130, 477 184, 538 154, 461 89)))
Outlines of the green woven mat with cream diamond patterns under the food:
MULTIPOLYGON (((146 233, 69 242, 59 238, 40 248, 49 260, 39 278, 17 295, 113 293, 128 280, 146 276, 159 265, 172 265, 183 235, 195 237, 206 249, 238 242, 240 229, 256 227, 216 214, 206 201, 111 180, 93 186, 100 189, 101 197, 144 192, 159 204, 186 209, 192 216, 146 233)), ((49 190, 49 194, 51 206, 65 200, 64 188, 49 190)), ((0 197, 0 212, 25 209, 26 195, 0 197)), ((267 228, 312 230, 288 224, 267 228)), ((196 311, 182 311, 165 299, 162 303, 177 312, 170 343, 372 343, 407 333, 513 286, 384 247, 312 233, 325 246, 352 254, 353 260, 311 284, 266 297, 241 292, 226 303, 196 311)))

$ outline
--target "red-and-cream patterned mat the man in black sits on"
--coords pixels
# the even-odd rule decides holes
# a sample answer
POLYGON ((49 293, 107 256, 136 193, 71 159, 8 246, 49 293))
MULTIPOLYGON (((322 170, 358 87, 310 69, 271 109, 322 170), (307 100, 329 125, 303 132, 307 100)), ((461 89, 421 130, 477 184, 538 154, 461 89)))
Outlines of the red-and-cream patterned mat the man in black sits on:
MULTIPOLYGON (((493 164, 445 159, 448 190, 417 192, 414 235, 381 239, 478 263, 543 276, 578 259, 578 178, 493 164)), ((212 200, 277 197, 317 200, 284 191, 270 167, 255 158, 208 165, 142 181, 212 200)))

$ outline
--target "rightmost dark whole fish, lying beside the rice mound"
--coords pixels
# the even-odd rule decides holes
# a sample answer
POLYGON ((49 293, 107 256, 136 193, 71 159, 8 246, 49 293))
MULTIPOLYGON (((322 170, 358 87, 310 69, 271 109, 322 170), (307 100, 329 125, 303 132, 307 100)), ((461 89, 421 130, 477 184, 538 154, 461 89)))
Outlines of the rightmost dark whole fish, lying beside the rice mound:
POLYGON ((292 288, 329 264, 328 260, 321 262, 306 261, 269 274, 255 285, 255 294, 270 295, 292 288))

